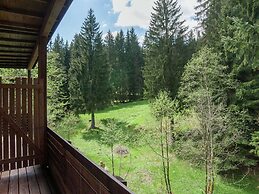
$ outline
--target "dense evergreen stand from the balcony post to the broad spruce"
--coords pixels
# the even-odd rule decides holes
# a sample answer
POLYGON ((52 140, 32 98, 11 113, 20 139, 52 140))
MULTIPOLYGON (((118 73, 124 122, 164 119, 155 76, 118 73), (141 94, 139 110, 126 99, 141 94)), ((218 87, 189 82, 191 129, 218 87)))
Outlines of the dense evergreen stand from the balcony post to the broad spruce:
POLYGON ((90 10, 70 45, 59 35, 49 44, 49 94, 58 87, 48 96, 51 120, 64 116, 59 110, 88 112, 94 128, 96 110, 143 98, 143 52, 134 28, 104 39, 99 28, 90 10))

